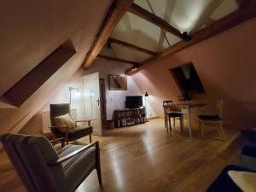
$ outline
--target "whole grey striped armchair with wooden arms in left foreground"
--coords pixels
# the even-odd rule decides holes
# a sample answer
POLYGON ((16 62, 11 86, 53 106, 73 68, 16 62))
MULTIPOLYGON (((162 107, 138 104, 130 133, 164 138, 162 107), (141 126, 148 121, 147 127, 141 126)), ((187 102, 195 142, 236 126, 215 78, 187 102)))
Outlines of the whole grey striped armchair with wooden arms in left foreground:
POLYGON ((71 192, 96 169, 102 184, 98 142, 55 151, 46 137, 3 134, 3 148, 28 192, 71 192))

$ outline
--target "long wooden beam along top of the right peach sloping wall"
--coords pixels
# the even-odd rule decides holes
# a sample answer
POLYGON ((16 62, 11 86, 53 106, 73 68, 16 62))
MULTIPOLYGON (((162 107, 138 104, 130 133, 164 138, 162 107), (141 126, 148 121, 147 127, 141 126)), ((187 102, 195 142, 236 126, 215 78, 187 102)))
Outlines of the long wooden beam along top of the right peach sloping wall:
POLYGON ((211 38, 212 36, 217 35, 220 32, 224 32, 225 30, 230 29, 233 26, 241 24, 242 22, 255 17, 256 16, 255 4, 256 3, 251 2, 247 4, 247 6, 242 7, 241 9, 237 9, 233 11, 232 13, 230 13, 230 15, 226 15, 224 18, 212 23, 212 25, 206 26, 205 28, 201 29, 201 31, 199 32, 195 32, 191 41, 180 41, 177 44, 172 45, 172 47, 166 48, 162 52, 158 53, 157 55, 150 57, 148 60, 138 64, 137 69, 134 69, 134 68, 127 69, 125 71, 125 74, 131 75, 131 74, 137 73, 137 71, 139 71, 139 67, 143 67, 152 61, 156 62, 163 57, 173 55, 178 51, 186 49, 207 38, 211 38))

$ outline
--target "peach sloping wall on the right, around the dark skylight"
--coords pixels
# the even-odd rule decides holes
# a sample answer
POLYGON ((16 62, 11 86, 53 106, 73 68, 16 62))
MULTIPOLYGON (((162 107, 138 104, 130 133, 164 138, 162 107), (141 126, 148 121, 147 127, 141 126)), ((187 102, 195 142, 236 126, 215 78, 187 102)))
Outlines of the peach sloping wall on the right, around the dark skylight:
POLYGON ((213 112, 224 99, 224 124, 238 129, 256 125, 256 18, 247 20, 212 38, 183 49, 160 61, 153 61, 134 74, 141 90, 148 90, 151 105, 163 116, 162 101, 177 101, 180 91, 168 69, 192 61, 206 94, 195 102, 207 102, 213 112))

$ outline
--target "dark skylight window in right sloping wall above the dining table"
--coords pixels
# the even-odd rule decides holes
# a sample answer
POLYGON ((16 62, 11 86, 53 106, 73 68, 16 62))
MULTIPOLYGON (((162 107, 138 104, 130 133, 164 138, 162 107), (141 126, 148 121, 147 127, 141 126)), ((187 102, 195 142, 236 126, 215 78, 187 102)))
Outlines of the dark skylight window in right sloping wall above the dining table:
POLYGON ((192 62, 181 67, 169 69, 172 77, 176 80, 178 87, 183 92, 197 92, 204 93, 205 89, 195 71, 192 62))

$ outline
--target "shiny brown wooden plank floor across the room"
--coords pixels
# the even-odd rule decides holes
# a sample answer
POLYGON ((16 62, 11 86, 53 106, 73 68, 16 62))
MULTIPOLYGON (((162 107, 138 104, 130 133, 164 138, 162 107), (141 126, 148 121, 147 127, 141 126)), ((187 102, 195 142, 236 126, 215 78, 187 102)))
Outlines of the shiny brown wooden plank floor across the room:
MULTIPOLYGON (((239 131, 225 132, 225 142, 214 129, 201 138, 195 128, 189 139, 187 130, 167 134, 163 119, 153 119, 93 137, 100 141, 103 189, 94 171, 77 192, 203 192, 225 165, 238 163, 244 138, 239 131)), ((6 154, 0 162, 0 191, 26 191, 6 154)))

